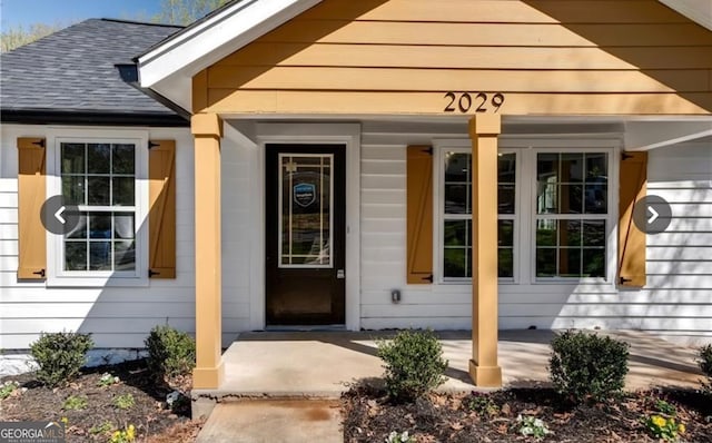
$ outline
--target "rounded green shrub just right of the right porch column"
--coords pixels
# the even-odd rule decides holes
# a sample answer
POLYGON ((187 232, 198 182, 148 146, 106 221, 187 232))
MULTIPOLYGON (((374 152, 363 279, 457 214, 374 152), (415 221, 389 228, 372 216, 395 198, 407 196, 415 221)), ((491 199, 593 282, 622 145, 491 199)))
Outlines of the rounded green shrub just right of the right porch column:
POLYGON ((627 374, 627 343, 584 332, 557 334, 551 343, 550 376, 576 403, 620 393, 627 374))

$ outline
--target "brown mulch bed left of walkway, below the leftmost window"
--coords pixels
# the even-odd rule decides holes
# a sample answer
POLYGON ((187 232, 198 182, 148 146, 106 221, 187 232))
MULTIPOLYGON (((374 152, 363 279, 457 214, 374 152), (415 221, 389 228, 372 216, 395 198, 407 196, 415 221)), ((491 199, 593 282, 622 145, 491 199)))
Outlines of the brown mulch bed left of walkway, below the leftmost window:
MULTIPOLYGON (((0 384, 7 381, 18 382, 20 388, 0 401, 0 421, 65 419, 68 442, 107 442, 113 431, 129 424, 136 429, 137 441, 192 442, 200 429, 200 423, 190 421, 189 401, 180 402, 172 411, 167 406, 166 395, 174 388, 151 380, 145 361, 85 370, 69 385, 58 388, 41 386, 32 374, 4 377, 0 384), (100 386, 105 373, 118 376, 119 382, 100 386), (126 400, 128 395, 134 405, 118 407, 117 398, 126 400), (65 407, 70 396, 85 398, 86 407, 65 407)), ((176 382, 185 387, 190 384, 189 380, 176 382)))

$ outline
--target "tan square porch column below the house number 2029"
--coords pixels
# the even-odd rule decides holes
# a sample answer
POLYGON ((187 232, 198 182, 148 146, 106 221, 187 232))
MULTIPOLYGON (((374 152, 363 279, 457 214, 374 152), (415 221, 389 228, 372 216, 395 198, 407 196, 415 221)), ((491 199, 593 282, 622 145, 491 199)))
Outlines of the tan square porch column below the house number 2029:
POLYGON ((497 136, 501 118, 469 120, 472 139, 472 360, 476 386, 502 386, 497 364, 497 136))

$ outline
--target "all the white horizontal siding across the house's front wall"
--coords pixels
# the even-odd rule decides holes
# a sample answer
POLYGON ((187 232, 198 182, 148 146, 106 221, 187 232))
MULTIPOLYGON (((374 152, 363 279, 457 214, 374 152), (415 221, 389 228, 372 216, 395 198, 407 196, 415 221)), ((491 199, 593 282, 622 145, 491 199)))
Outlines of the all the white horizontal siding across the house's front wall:
MULTIPOLYGON (((250 129, 250 125, 246 128, 250 129)), ((16 138, 43 136, 41 126, 3 126, 0 149, 0 347, 26 348, 40 332, 91 332, 98 347, 141 347, 156 324, 195 331, 194 151, 188 129, 151 129, 177 140, 178 278, 147 287, 47 288, 18 283, 16 138)), ((226 134, 229 134, 226 132, 226 134)), ((360 159, 360 325, 364 328, 471 327, 469 285, 407 285, 406 146, 466 138, 464 124, 364 122, 360 159), (390 291, 402 302, 390 302, 390 291)), ((521 137, 521 136, 520 136, 521 137)), ((247 144, 246 144, 247 145, 247 144)), ((250 177, 254 146, 222 144, 222 337, 250 328, 250 177)), ((712 146, 650 151, 649 194, 668 199, 670 229, 647 236, 647 286, 502 284, 500 327, 634 328, 664 335, 712 336, 712 146)), ((612 208, 617 201, 611 203, 612 208)), ((615 210, 615 209, 614 209, 615 210)), ((261 246, 260 246, 261 247, 261 246)), ((254 319, 253 319, 254 321, 254 319)))

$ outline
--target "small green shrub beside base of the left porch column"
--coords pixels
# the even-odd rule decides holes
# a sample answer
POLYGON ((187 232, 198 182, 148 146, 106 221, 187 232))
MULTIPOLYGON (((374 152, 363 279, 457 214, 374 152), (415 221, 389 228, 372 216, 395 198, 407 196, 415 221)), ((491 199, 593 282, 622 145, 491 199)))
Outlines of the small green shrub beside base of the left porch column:
POLYGON ((148 368, 158 378, 189 373, 196 365, 196 342, 171 326, 156 326, 146 338, 148 368))

